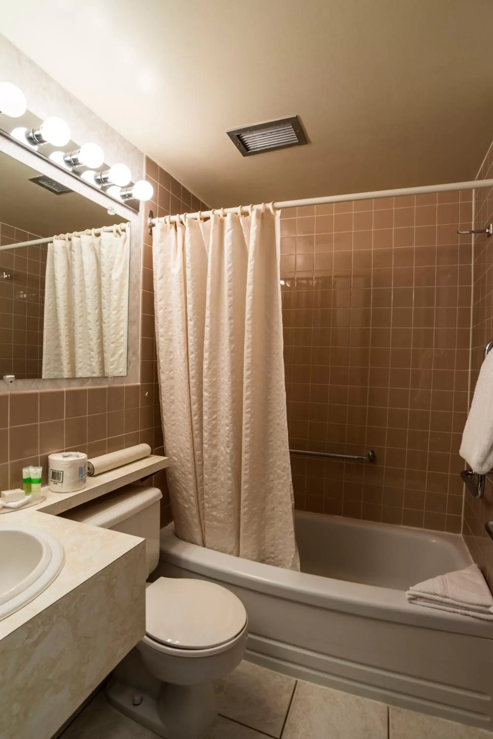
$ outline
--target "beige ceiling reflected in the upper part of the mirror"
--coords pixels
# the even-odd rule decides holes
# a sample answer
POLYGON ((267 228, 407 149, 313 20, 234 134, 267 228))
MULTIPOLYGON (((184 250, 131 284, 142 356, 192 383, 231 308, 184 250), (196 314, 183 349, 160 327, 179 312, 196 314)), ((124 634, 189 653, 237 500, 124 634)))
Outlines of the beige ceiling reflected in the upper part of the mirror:
POLYGON ((39 176, 35 169, 0 153, 0 222, 37 236, 53 236, 121 221, 76 192, 56 195, 31 182, 39 176))

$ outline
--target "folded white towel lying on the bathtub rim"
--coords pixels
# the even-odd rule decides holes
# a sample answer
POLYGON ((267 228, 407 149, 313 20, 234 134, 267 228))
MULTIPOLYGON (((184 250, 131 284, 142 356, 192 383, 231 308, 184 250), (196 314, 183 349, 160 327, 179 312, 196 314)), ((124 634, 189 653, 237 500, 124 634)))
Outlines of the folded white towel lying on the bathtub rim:
POLYGON ((415 605, 493 621, 493 596, 477 565, 413 585, 406 597, 415 605))

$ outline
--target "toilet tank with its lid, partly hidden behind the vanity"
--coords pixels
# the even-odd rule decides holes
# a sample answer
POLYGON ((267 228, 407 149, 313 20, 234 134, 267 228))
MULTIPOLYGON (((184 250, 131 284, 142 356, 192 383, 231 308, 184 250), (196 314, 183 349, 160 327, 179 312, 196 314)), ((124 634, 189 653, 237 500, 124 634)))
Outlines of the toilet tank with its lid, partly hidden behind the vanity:
POLYGON ((146 539, 147 574, 159 562, 160 500, 158 488, 128 485, 61 514, 92 526, 111 528, 146 539))

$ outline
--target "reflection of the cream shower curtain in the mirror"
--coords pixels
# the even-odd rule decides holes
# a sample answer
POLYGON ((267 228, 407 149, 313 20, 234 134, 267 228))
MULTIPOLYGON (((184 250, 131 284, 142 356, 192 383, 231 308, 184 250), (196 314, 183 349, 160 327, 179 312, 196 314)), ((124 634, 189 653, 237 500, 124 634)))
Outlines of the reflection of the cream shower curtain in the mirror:
POLYGON ((48 245, 43 378, 126 375, 129 243, 115 230, 48 245))

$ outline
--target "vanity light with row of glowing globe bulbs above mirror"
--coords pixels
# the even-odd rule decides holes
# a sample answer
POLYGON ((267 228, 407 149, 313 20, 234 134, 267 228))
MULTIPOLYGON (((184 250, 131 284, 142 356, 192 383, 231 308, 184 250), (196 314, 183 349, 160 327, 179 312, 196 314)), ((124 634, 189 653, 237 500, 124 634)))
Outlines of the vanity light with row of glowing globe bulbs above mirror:
MULTIPOLYGON (((0 82, 0 114, 10 118, 20 118, 27 110, 24 93, 11 82, 0 82)), ((37 151, 38 146, 50 143, 52 146, 65 146, 70 140, 70 129, 67 123, 58 116, 52 115, 41 123, 37 129, 28 131, 18 127, 10 134, 21 143, 37 151)), ((132 184, 132 172, 126 164, 114 164, 104 171, 95 171, 104 162, 104 152, 96 143, 84 143, 75 151, 53 151, 49 157, 58 166, 72 171, 90 185, 97 188, 109 185, 106 193, 115 200, 151 200, 154 194, 152 184, 146 180, 137 180, 132 184), (87 167, 88 171, 73 171, 74 167, 87 167), (90 172, 90 174, 89 174, 90 172)))

